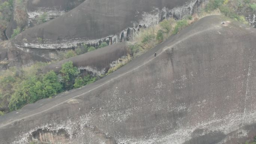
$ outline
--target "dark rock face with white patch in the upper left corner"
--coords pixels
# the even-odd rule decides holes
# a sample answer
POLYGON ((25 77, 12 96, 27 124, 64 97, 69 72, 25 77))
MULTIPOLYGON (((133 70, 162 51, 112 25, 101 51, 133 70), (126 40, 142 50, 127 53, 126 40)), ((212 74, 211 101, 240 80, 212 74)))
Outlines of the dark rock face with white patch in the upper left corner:
POLYGON ((16 7, 12 19, 6 30, 6 36, 11 37, 13 29, 17 27, 29 28, 38 23, 38 18, 46 13, 45 20, 57 18, 69 10, 75 8, 85 0, 20 0, 20 6, 16 7))

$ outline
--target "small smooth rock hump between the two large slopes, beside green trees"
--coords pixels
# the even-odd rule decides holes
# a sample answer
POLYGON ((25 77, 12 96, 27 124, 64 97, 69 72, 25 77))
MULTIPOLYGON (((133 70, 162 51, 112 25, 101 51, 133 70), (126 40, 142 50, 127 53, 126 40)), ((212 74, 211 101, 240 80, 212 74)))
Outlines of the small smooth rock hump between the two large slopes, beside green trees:
POLYGON ((63 63, 72 61, 73 65, 78 67, 80 70, 100 76, 101 74, 105 74, 105 72, 108 71, 112 65, 115 65, 119 58, 127 56, 128 53, 129 52, 126 49, 125 42, 117 43, 115 45, 109 45, 92 52, 84 53, 73 58, 50 64, 43 68, 43 73, 50 70, 54 70, 58 73, 60 72, 61 65, 63 63))

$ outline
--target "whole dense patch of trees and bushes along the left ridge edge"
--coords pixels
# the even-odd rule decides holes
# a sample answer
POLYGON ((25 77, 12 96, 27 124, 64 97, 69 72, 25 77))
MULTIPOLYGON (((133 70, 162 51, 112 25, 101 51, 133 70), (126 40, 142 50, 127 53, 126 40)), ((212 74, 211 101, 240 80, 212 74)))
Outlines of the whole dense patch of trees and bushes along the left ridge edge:
POLYGON ((12 67, 5 73, 2 72, 0 77, 2 84, 0 85, 0 115, 18 110, 39 99, 51 98, 60 92, 80 88, 97 79, 90 74, 83 78, 71 61, 62 65, 59 74, 54 71, 41 73, 41 68, 44 65, 46 64, 37 63, 22 69, 12 67), (83 80, 81 81, 81 79, 83 80))

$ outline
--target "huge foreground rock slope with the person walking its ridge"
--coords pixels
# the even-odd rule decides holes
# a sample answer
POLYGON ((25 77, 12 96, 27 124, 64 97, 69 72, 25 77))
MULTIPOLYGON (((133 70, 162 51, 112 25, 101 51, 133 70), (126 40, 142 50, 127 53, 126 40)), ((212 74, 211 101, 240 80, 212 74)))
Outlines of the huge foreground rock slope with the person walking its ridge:
POLYGON ((0 143, 242 143, 256 134, 255 39, 205 17, 91 85, 0 116, 0 143))

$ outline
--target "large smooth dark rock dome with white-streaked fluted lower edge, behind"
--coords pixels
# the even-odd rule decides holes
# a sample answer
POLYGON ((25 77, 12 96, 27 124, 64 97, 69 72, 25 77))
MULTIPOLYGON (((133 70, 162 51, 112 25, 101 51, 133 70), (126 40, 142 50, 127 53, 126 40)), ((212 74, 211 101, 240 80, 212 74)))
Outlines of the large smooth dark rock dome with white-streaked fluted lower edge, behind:
POLYGON ((203 1, 86 0, 65 15, 22 32, 12 42, 17 47, 40 49, 122 42, 140 27, 156 24, 166 17, 192 14, 203 1))

